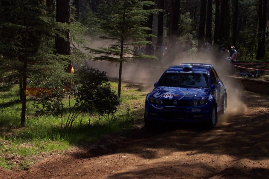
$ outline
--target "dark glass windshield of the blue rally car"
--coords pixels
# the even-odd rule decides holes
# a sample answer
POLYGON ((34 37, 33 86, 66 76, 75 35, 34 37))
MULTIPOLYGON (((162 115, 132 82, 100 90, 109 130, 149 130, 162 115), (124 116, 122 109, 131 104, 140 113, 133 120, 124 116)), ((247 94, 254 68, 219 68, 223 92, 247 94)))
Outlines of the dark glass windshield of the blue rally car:
POLYGON ((166 72, 158 86, 208 88, 208 76, 203 73, 166 72))

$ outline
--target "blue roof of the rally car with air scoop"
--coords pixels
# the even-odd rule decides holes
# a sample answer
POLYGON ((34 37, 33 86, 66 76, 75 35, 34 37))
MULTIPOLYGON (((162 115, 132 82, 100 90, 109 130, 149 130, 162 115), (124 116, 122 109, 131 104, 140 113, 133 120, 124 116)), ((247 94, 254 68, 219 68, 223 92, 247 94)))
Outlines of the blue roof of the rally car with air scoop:
POLYGON ((175 65, 169 67, 167 70, 192 70, 192 71, 207 71, 212 68, 212 64, 202 64, 202 63, 183 63, 180 65, 175 65))

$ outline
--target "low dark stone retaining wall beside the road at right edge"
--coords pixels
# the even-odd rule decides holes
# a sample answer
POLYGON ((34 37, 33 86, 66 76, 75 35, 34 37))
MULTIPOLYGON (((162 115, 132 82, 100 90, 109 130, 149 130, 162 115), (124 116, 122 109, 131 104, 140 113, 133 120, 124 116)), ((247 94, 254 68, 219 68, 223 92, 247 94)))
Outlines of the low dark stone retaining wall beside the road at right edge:
POLYGON ((236 81, 240 81, 244 90, 269 95, 269 81, 234 76, 231 78, 236 81))

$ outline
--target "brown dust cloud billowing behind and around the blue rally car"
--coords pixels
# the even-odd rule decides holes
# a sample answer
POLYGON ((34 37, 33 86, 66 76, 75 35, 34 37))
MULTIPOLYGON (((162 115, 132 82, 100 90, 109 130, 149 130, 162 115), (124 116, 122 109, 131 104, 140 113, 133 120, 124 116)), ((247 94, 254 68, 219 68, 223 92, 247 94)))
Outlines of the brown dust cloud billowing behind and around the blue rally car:
MULTIPOLYGON (((111 40, 100 40, 87 37, 91 40, 91 48, 108 47, 111 40)), ((211 55, 213 56, 213 55, 211 55)), ((207 63, 213 64, 218 76, 224 82, 227 91, 227 110, 226 115, 221 117, 222 123, 228 123, 231 116, 241 115, 247 112, 247 107, 242 101, 243 87, 241 84, 230 77, 233 67, 225 60, 212 58, 210 55, 196 53, 189 55, 187 53, 178 53, 173 59, 164 58, 159 61, 155 60, 130 60, 123 64, 122 80, 130 83, 138 83, 144 86, 144 91, 150 91, 154 88, 154 83, 158 81, 163 72, 170 66, 181 63, 207 63)), ((107 76, 111 79, 118 79, 119 66, 116 63, 107 61, 87 61, 92 67, 106 71, 107 76)))

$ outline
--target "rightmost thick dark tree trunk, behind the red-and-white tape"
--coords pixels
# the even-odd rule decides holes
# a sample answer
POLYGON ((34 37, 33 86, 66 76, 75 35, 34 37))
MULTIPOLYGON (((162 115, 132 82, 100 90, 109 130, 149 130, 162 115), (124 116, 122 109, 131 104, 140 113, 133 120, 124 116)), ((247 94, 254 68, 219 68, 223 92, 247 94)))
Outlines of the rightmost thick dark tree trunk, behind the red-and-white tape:
POLYGON ((259 0, 259 32, 258 32, 258 50, 256 59, 261 60, 265 56, 265 32, 266 32, 266 15, 268 0, 259 0))

